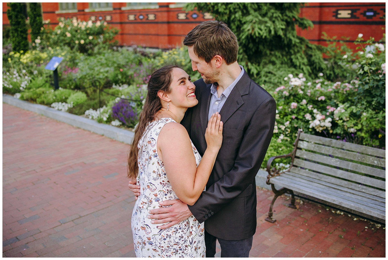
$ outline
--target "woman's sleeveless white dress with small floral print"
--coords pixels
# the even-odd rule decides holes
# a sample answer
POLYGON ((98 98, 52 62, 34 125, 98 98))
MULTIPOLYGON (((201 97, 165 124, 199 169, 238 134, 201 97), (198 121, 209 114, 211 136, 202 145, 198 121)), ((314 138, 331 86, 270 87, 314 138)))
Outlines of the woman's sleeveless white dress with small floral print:
MULTIPOLYGON (((148 219, 149 210, 162 207, 159 201, 177 199, 158 157, 156 142, 162 127, 171 118, 151 122, 139 141, 140 196, 132 213, 132 233, 137 257, 205 257, 204 226, 194 216, 167 229, 158 229, 148 219)), ((197 166, 201 155, 191 143, 197 166)))

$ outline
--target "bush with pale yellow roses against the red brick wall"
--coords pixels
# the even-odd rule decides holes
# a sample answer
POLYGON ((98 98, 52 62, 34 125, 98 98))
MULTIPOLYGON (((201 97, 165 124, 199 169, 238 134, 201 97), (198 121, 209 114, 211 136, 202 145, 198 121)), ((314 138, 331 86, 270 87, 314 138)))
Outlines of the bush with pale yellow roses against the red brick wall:
POLYGON ((91 55, 99 46, 106 50, 117 44, 113 41, 118 29, 110 28, 106 22, 80 21, 63 18, 50 34, 50 46, 68 46, 71 50, 91 55))

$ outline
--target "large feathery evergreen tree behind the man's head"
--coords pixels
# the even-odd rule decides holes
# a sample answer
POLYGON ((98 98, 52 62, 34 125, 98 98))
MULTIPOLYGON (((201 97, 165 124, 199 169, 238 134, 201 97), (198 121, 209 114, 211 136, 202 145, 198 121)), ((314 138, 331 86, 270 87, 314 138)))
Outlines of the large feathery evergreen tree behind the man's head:
POLYGON ((224 21, 239 42, 239 64, 260 84, 271 84, 279 69, 300 71, 308 75, 324 72, 322 47, 296 34, 313 27, 299 17, 300 3, 188 3, 187 10, 197 8, 224 21), (268 69, 268 66, 270 67, 268 69))

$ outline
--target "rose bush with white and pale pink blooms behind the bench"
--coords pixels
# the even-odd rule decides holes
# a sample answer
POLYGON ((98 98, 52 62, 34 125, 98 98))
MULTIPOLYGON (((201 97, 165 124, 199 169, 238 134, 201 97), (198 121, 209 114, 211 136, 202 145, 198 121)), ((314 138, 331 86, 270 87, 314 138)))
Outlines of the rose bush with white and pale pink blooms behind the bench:
POLYGON ((284 78, 272 92, 277 111, 270 155, 281 146, 284 153, 291 152, 298 130, 385 148, 385 45, 367 44, 349 54, 356 57, 349 66, 354 70, 350 79, 331 82, 323 73, 313 81, 303 74, 284 78))

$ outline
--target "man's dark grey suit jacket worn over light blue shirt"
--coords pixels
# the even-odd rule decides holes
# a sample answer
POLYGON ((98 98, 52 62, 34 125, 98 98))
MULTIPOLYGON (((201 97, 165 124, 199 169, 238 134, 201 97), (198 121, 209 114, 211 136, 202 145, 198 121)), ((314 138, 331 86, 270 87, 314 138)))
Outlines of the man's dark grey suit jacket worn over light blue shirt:
MULTIPOLYGON (((206 150, 211 84, 194 82, 198 105, 181 124, 201 156, 206 150)), ((276 103, 245 72, 220 110, 223 140, 206 191, 189 206, 206 231, 225 240, 249 238, 256 231, 255 176, 267 152, 275 125, 276 103)))

